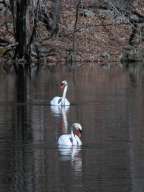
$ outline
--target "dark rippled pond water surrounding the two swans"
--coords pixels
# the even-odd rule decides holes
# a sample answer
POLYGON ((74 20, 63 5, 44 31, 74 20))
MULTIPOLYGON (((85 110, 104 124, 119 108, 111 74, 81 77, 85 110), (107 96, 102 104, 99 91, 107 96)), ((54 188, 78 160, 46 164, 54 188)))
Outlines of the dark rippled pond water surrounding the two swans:
POLYGON ((143 192, 144 79, 93 66, 45 69, 27 78, 26 101, 14 75, 0 76, 0 191, 143 192), (68 80, 70 108, 49 106, 68 80), (57 148, 73 122, 83 146, 57 148))

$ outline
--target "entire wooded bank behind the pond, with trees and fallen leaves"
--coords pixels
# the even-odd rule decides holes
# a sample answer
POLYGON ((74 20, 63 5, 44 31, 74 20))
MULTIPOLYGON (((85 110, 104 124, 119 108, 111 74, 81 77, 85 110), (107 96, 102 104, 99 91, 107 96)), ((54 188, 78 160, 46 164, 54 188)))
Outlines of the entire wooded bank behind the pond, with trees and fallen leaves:
POLYGON ((144 1, 0 0, 1 70, 144 63, 144 1))

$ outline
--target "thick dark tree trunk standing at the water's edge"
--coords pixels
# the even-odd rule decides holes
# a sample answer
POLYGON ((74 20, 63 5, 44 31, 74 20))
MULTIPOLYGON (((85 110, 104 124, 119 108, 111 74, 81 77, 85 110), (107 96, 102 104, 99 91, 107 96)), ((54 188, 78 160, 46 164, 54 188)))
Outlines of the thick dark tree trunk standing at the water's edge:
POLYGON ((14 54, 14 67, 16 72, 19 68, 30 65, 30 22, 29 0, 10 0, 10 9, 13 16, 14 36, 17 43, 14 54), (20 61, 20 62, 19 62, 20 61))

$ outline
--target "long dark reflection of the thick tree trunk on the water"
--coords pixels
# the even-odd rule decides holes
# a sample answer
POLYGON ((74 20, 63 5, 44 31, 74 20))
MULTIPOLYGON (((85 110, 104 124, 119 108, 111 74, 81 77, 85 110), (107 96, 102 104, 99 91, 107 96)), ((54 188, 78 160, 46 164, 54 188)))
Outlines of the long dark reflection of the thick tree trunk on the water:
POLYGON ((15 191, 32 192, 33 153, 32 130, 27 105, 27 75, 21 71, 16 77, 16 120, 14 127, 15 191))

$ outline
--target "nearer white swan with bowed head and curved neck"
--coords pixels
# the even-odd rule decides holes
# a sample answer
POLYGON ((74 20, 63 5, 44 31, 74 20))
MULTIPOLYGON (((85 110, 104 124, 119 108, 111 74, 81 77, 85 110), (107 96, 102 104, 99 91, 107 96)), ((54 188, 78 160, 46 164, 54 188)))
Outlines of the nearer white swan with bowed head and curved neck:
POLYGON ((61 135, 58 139, 59 146, 81 146, 80 140, 82 132, 82 126, 79 123, 73 123, 71 128, 71 134, 61 135))

